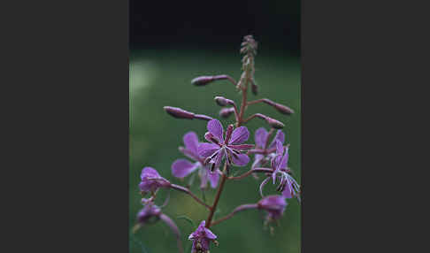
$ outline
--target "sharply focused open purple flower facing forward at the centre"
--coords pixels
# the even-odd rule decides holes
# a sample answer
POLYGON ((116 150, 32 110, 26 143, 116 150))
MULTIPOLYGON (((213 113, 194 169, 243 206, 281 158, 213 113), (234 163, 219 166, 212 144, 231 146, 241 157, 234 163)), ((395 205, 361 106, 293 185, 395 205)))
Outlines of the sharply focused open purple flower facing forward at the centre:
POLYGON ((204 164, 210 164, 211 169, 219 167, 223 157, 226 157, 227 165, 244 166, 250 162, 250 157, 241 154, 241 151, 252 149, 254 145, 242 144, 248 141, 250 132, 245 126, 237 127, 233 130, 233 125, 229 125, 224 139, 224 128, 218 119, 208 122, 208 131, 204 138, 211 142, 203 142, 198 147, 199 155, 206 157, 204 164))

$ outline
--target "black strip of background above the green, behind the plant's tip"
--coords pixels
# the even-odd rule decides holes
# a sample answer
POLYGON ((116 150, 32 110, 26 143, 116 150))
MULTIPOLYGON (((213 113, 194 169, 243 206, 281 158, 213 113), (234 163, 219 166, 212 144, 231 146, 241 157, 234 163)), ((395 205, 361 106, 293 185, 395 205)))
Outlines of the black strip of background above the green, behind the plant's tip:
POLYGON ((236 50, 244 35, 298 55, 300 1, 131 0, 130 49, 236 50))

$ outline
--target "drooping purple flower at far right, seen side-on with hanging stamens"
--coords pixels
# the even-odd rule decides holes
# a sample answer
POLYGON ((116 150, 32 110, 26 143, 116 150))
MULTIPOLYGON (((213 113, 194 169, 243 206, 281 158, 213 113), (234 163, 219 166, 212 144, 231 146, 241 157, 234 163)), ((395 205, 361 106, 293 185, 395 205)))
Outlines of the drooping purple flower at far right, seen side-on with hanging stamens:
MULTIPOLYGON (((278 190, 282 192, 282 196, 286 198, 297 197, 297 199, 300 200, 300 186, 296 182, 296 180, 289 174, 290 170, 288 169, 288 147, 286 147, 284 154, 284 147, 282 146, 282 143, 278 140, 276 140, 276 155, 272 158, 271 166, 273 169, 273 184, 276 183, 277 178, 280 178, 280 185, 278 187, 278 190)), ((270 178, 267 178, 261 183, 261 194, 262 188, 269 179, 270 178)))

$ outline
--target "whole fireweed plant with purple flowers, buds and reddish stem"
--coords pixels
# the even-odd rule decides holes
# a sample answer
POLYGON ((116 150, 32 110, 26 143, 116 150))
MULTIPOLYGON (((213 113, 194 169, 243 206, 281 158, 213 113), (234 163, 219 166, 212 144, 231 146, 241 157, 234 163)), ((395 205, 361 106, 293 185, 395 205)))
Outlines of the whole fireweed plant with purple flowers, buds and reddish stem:
POLYGON ((196 231, 188 235, 188 240, 192 241, 192 253, 207 253, 209 252, 211 243, 218 245, 216 241, 218 235, 213 234, 210 230, 211 226, 234 217, 240 211, 253 209, 265 211, 265 226, 267 226, 269 223, 280 219, 287 207, 287 198, 297 198, 300 202, 300 186, 294 180, 291 170, 288 168, 289 145, 284 145, 285 135, 280 130, 284 127, 284 124, 277 119, 272 119, 261 113, 245 117, 247 108, 256 103, 266 103, 286 115, 290 115, 294 111, 283 104, 274 103, 267 98, 248 101, 249 88, 255 96, 257 95, 257 84, 254 80, 254 59, 257 55, 257 42, 252 35, 244 37, 241 54, 244 56, 242 58, 242 75, 239 81, 236 82, 232 77, 225 74, 200 76, 191 80, 191 83, 196 86, 205 86, 216 80, 228 80, 238 92, 242 93, 240 108, 236 106, 233 100, 223 96, 215 97, 215 102, 219 106, 224 107, 219 111, 219 116, 227 119, 234 114, 234 124, 228 125, 225 128, 218 119, 212 119, 209 116, 185 111, 177 107, 164 107, 164 110, 168 114, 177 119, 200 119, 208 121, 208 132, 200 140, 197 134, 192 131, 183 136, 184 146, 180 147, 179 150, 187 159, 180 158, 174 161, 172 173, 174 177, 180 179, 190 174, 197 174, 200 178, 200 188, 202 189, 207 188, 209 182, 211 188, 216 188, 217 191, 214 202, 211 205, 204 203, 203 200, 190 191, 189 186, 182 187, 171 183, 157 173, 157 170, 154 168, 144 167, 142 169, 142 181, 139 184, 139 188, 141 189, 142 196, 150 194, 150 197, 142 198, 143 208, 137 214, 137 224, 134 226, 134 231, 161 219, 175 234, 180 253, 183 252, 180 241, 180 230, 173 220, 162 211, 167 201, 162 206, 155 204, 157 191, 159 190, 173 189, 187 194, 196 203, 203 205, 209 212, 207 219, 201 221, 200 225, 196 227, 196 231), (264 119, 265 123, 270 126, 270 130, 267 131, 265 127, 258 128, 255 132, 255 144, 251 144, 249 143, 250 131, 243 125, 256 118, 264 119), (201 140, 206 142, 202 142, 201 140), (269 142, 269 140, 272 140, 272 142, 269 142), (251 155, 254 156, 254 160, 250 163, 251 155), (234 167, 246 165, 251 165, 246 173, 242 173, 239 176, 231 175, 234 167), (254 175, 258 179, 257 174, 265 177, 259 188, 256 188, 256 190, 259 190, 262 198, 257 203, 239 205, 227 216, 212 220, 226 181, 242 180, 250 175, 254 175), (270 181, 274 185, 277 185, 280 195, 263 195, 263 187, 270 181))

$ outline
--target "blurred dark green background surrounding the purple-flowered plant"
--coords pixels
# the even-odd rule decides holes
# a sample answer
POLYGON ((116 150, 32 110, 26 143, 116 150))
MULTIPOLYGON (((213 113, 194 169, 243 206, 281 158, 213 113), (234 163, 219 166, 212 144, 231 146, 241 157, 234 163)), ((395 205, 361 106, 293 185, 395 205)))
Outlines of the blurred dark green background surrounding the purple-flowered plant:
MULTIPOLYGON (((138 183, 144 166, 157 169, 167 180, 184 185, 173 178, 171 165, 177 158, 183 158, 178 146, 183 145, 182 136, 188 131, 195 131, 203 142, 206 132, 206 121, 173 119, 163 110, 171 105, 219 118, 221 109, 214 101, 214 96, 226 96, 240 103, 241 96, 233 85, 227 81, 218 81, 206 87, 195 87, 190 80, 199 75, 229 74, 238 80, 241 74, 241 56, 239 52, 222 50, 133 50, 129 61, 129 227, 134 226, 137 212, 142 209, 138 183)), ((259 50, 256 58, 256 80, 259 94, 249 94, 249 99, 270 98, 283 103, 296 111, 286 116, 275 111, 265 103, 251 105, 247 115, 263 113, 279 119, 286 126, 286 143, 290 143, 288 165, 292 168, 297 182, 301 182, 301 70, 299 58, 288 54, 273 53, 270 50, 259 50)), ((232 123, 234 117, 221 119, 224 126, 232 123)), ((254 132, 260 126, 269 126, 261 119, 253 119, 247 124, 250 130, 250 143, 254 143, 254 132)), ((251 157, 253 159, 253 157, 251 157)), ((251 165, 251 163, 250 163, 251 165)), ((244 173, 249 168, 234 167, 234 173, 244 173)), ((188 179, 188 178, 187 178, 188 179)), ((257 203, 260 199, 258 186, 263 178, 255 180, 248 177, 241 181, 227 181, 219 201, 218 218, 226 215, 239 204, 257 203)), ((192 190, 202 197, 196 178, 192 190)), ((275 186, 267 184, 265 195, 274 194, 275 186)), ((205 193, 208 203, 213 202, 215 190, 208 188, 205 193)), ((166 191, 161 190, 157 204, 163 203, 166 191)), ((196 204, 189 196, 171 192, 170 202, 163 208, 180 227, 184 248, 188 248, 188 234, 195 227, 184 219, 186 215, 198 225, 206 219, 207 211, 196 204)), ((211 246, 211 252, 300 252, 301 245, 301 211, 296 199, 288 201, 287 210, 279 226, 273 224, 274 234, 264 229, 264 212, 245 211, 217 226, 211 227, 219 236, 219 247, 211 246)), ((130 232, 129 249, 137 252, 177 252, 176 242, 171 231, 161 221, 140 229, 136 234, 130 232)), ((189 251, 186 251, 189 252, 189 251)))

